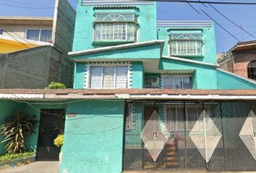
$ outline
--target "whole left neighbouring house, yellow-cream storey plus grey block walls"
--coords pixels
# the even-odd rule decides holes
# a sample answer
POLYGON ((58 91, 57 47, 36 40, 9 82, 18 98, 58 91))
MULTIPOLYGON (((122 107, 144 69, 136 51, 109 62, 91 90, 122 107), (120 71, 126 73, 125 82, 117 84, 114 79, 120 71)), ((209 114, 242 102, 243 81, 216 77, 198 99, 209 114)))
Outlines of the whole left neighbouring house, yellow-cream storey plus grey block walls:
POLYGON ((51 81, 72 87, 74 19, 66 0, 56 1, 54 18, 0 17, 0 88, 43 89, 51 81))

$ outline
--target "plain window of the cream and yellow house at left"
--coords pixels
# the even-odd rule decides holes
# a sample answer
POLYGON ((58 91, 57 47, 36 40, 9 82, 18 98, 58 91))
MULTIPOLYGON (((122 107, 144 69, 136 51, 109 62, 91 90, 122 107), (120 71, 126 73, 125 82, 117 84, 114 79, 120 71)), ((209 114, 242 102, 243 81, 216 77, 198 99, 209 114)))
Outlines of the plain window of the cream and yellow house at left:
POLYGON ((51 42, 51 32, 52 30, 28 29, 27 39, 51 42))

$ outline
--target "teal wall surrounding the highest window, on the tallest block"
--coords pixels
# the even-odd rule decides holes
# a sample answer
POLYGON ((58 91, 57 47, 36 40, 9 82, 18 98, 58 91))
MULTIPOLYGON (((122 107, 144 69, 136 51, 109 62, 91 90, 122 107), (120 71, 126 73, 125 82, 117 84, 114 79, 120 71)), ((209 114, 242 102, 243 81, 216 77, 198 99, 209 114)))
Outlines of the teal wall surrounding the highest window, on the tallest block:
POLYGON ((93 10, 94 6, 81 6, 81 0, 79 0, 77 4, 73 51, 100 47, 99 45, 93 45, 93 22, 95 20, 93 15, 95 12, 135 12, 139 15, 138 41, 156 40, 157 38, 156 3, 150 5, 136 5, 139 9, 95 10, 93 10))

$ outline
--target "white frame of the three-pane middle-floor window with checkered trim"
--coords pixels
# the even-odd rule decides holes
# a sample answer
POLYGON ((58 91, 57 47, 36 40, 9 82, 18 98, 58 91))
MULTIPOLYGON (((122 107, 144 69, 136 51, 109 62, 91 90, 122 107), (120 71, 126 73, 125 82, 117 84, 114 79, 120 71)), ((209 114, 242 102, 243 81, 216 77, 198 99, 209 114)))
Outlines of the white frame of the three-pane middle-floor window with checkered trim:
POLYGON ((95 63, 95 64, 90 64, 88 66, 88 76, 87 76, 87 88, 88 89, 116 89, 116 67, 117 66, 127 66, 127 88, 124 88, 124 89, 129 89, 130 88, 130 84, 129 84, 129 78, 130 78, 130 64, 129 63, 111 63, 111 64, 105 64, 105 63, 95 63), (101 67, 101 78, 102 78, 102 83, 101 83, 101 88, 91 88, 90 87, 90 68, 91 67, 101 67), (114 67, 114 87, 113 88, 104 88, 103 87, 103 69, 104 67, 114 67))

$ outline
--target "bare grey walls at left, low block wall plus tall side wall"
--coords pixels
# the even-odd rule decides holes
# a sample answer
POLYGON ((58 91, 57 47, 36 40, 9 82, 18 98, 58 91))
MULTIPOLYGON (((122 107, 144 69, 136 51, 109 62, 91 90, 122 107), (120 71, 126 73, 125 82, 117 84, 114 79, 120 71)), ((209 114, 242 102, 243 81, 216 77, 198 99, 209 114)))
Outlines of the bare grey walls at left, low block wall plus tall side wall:
POLYGON ((75 12, 67 0, 57 0, 54 15, 54 48, 41 46, 0 55, 0 88, 42 89, 51 81, 72 88, 74 68, 67 53, 72 49, 75 12))

